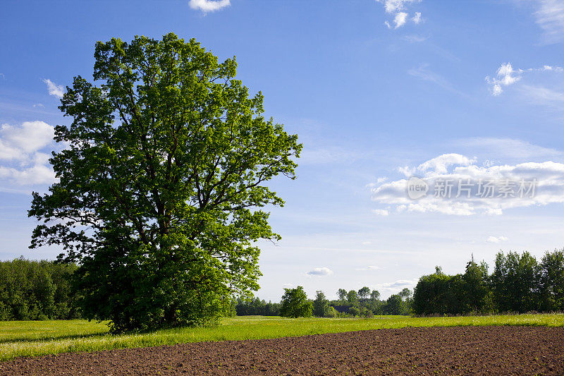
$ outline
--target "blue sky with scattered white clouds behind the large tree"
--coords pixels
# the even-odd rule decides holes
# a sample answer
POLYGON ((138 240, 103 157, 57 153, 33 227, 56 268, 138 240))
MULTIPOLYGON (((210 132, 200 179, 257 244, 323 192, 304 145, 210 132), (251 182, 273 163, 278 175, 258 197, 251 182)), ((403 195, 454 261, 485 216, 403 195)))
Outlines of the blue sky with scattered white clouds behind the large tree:
MULTIPOLYGON (((472 253, 562 248, 564 1, 4 1, 0 12, 0 259, 28 250, 32 190, 53 181, 59 97, 92 78, 94 43, 195 37, 298 133, 298 179, 262 243, 257 293, 412 288, 472 253), (410 176, 429 183, 407 198, 410 176), (437 198, 438 181, 537 181, 534 197, 437 198)), ((496 186, 500 188, 499 186, 496 186)), ((456 188, 456 187, 455 187, 456 188)), ((474 187, 476 188, 476 187, 474 187)), ((474 191, 472 191, 474 194, 474 191)))

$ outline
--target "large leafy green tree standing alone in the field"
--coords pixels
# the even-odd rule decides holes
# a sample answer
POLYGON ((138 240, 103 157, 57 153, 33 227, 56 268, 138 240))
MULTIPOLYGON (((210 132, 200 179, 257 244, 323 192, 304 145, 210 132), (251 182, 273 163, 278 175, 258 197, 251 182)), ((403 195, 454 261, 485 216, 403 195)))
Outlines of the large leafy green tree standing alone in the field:
POLYGON ((195 40, 114 38, 94 58, 97 85, 61 99, 68 147, 33 194, 31 247, 60 245, 85 316, 116 332, 216 322, 259 287, 256 241, 280 238, 259 208, 283 205, 264 183, 295 178, 302 145, 195 40))

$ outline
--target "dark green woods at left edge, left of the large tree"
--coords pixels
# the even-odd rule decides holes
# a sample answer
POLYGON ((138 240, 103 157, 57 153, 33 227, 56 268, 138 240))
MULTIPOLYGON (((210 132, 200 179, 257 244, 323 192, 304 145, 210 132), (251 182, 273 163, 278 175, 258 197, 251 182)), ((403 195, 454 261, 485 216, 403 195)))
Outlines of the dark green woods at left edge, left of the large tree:
POLYGON ((0 320, 80 317, 69 279, 75 265, 30 261, 0 262, 0 320))

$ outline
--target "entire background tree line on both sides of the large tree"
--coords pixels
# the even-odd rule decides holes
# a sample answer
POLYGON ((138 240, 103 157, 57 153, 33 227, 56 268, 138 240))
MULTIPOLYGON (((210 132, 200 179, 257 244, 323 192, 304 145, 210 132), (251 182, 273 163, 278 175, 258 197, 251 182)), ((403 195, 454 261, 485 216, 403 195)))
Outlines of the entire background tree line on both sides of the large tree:
MULTIPOLYGON (((74 264, 32 261, 23 257, 0 262, 0 320, 80 318, 80 293, 73 285, 74 264)), ((223 315, 282 317, 372 317, 373 315, 465 315, 564 310, 564 250, 537 260, 528 252, 496 255, 489 274, 486 262, 467 262, 465 272, 449 275, 436 267, 419 279, 412 293, 403 289, 389 298, 364 286, 338 289, 337 299, 323 291, 313 299, 302 286, 285 289, 280 303, 237 298, 223 315)))

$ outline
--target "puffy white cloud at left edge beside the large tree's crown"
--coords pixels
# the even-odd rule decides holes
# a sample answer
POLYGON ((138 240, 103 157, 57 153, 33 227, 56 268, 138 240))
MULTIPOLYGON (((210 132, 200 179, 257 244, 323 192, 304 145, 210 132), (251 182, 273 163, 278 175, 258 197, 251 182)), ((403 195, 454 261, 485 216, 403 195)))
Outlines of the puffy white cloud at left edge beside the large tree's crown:
POLYGON ((49 154, 41 150, 53 144, 53 136, 54 128, 43 121, 25 121, 21 126, 3 124, 0 128, 0 184, 52 183, 55 174, 49 166, 49 154))

